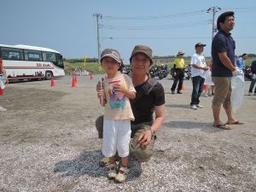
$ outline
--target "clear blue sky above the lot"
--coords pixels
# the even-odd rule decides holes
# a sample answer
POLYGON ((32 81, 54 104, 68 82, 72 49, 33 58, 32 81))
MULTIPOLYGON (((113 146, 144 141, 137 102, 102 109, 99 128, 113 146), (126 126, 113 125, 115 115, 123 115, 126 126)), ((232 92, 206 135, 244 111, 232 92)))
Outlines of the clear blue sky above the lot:
POLYGON ((56 49, 65 58, 97 57, 96 17, 101 14, 102 49, 118 49, 125 63, 136 44, 154 55, 186 55, 197 42, 211 53, 212 6, 235 11, 236 55, 256 54, 255 0, 1 0, 0 44, 28 44, 56 49))

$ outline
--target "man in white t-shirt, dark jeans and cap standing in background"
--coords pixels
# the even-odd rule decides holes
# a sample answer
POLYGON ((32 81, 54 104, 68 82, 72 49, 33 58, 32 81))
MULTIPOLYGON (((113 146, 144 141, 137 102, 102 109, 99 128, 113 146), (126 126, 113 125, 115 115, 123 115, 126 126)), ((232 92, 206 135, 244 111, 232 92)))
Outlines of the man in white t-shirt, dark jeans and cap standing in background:
POLYGON ((202 86, 205 82, 206 72, 208 70, 205 57, 201 55, 206 44, 195 44, 195 54, 191 57, 191 77, 193 90, 191 95, 190 107, 192 109, 203 108, 199 101, 201 96, 202 86))

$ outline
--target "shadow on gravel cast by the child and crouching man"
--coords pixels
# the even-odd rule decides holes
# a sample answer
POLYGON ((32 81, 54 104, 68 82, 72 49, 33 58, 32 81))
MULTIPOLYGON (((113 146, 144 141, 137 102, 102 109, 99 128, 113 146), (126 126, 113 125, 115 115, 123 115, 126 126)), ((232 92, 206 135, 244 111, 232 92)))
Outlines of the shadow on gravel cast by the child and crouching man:
MULTIPOLYGON (((84 174, 90 177, 107 177, 108 168, 99 166, 101 158, 102 152, 100 150, 86 151, 74 160, 61 160, 57 162, 54 172, 61 173, 61 177, 80 177, 84 174)), ((127 181, 140 177, 142 173, 142 167, 137 160, 134 160, 132 157, 130 159, 130 173, 127 181)))

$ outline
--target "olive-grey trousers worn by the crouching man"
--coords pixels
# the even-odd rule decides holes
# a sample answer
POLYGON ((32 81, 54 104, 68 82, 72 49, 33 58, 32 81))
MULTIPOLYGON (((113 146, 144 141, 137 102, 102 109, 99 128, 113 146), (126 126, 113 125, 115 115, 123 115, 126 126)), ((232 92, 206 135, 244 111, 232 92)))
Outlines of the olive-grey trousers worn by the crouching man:
MULTIPOLYGON (((152 137, 150 143, 142 147, 137 139, 143 131, 150 129, 152 122, 145 122, 142 124, 131 125, 131 142, 130 142, 130 153, 135 155, 135 158, 139 162, 148 161, 154 153, 154 140, 156 137, 152 137)), ((96 119, 96 130, 98 131, 98 137, 103 137, 103 116, 99 116, 96 119)))

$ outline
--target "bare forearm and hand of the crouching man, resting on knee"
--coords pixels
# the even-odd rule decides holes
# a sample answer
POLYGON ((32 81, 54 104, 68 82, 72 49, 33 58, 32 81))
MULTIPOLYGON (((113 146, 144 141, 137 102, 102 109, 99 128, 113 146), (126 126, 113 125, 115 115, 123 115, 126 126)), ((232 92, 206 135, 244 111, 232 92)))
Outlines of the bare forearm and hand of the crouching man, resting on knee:
MULTIPOLYGON (((161 125, 165 120, 165 105, 155 106, 154 108, 155 119, 153 125, 151 125, 150 129, 152 131, 158 131, 161 125)), ((147 146, 151 141, 152 133, 150 130, 144 131, 140 137, 138 137, 138 141, 142 146, 147 146)))

